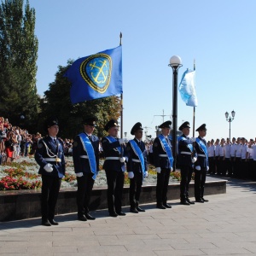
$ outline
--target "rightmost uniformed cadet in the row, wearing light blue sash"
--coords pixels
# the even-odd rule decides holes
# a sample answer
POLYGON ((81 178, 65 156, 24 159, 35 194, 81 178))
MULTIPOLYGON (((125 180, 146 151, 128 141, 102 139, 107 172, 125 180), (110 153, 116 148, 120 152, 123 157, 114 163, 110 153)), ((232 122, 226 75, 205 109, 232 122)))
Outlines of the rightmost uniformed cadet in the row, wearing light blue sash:
POLYGON ((195 201, 205 202, 204 189, 209 169, 207 142, 204 137, 207 134, 206 124, 201 125, 195 131, 199 132, 199 137, 195 139, 195 151, 197 153, 197 160, 195 161, 195 201))

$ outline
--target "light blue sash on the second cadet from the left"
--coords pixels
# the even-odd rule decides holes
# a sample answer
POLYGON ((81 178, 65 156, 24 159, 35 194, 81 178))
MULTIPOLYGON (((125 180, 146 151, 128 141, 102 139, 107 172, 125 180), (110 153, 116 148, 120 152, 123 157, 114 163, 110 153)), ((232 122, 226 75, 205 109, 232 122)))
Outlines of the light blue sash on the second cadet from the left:
POLYGON ((97 168, 96 168, 96 157, 95 157, 95 153, 94 153, 94 148, 92 147, 92 145, 90 143, 90 139, 84 134, 84 132, 80 133, 79 137, 80 137, 81 143, 84 147, 84 151, 88 155, 90 171, 94 174, 92 178, 95 180, 97 177, 97 168))

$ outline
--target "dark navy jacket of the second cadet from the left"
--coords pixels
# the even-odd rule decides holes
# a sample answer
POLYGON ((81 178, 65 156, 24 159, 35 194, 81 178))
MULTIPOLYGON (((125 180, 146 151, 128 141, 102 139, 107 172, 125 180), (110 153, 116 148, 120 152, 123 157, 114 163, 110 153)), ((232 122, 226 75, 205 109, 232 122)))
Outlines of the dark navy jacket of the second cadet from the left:
MULTIPOLYGON (((84 132, 84 134, 87 136, 87 134, 84 132)), ((91 141, 92 147, 94 149, 94 154, 96 158, 96 171, 99 172, 99 138, 95 135, 91 135, 91 141)), ((83 144, 81 142, 81 139, 79 136, 75 137, 73 142, 73 166, 74 171, 76 173, 79 172, 91 172, 90 171, 90 163, 89 160, 86 158, 81 158, 81 155, 87 155, 86 151, 84 150, 83 144)))

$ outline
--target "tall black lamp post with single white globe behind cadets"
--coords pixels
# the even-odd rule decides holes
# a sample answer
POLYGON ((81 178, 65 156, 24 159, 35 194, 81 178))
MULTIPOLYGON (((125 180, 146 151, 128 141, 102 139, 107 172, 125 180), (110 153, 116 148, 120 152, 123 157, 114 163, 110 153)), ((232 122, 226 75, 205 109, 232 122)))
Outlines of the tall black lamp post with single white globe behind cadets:
POLYGON ((173 154, 173 171, 176 171, 177 163, 177 72, 182 67, 180 56, 174 55, 170 59, 169 67, 172 67, 172 154, 173 154))

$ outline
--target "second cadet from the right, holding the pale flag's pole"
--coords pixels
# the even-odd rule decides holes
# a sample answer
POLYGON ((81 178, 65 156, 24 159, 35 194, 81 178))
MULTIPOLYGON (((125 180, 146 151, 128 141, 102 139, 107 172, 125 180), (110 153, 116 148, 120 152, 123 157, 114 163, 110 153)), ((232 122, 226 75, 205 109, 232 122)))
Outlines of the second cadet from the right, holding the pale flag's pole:
POLYGON ((195 204, 189 200, 189 183, 193 173, 193 163, 196 158, 194 154, 193 141, 189 138, 189 122, 184 122, 178 130, 182 131, 182 136, 177 138, 178 142, 178 164, 180 166, 181 181, 180 181, 180 203, 182 205, 195 204))

